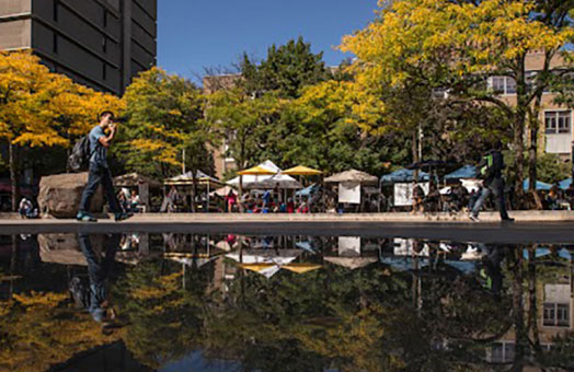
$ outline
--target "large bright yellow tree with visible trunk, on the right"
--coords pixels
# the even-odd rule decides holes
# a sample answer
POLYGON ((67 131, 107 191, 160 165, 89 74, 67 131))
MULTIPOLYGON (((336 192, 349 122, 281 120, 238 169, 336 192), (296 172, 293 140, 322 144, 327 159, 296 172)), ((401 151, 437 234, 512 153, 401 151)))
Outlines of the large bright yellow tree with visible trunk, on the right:
POLYGON ((358 57, 357 84, 375 94, 423 84, 501 107, 512 123, 521 184, 525 130, 538 120, 542 92, 560 75, 550 61, 558 55, 569 59, 563 47, 574 38, 572 1, 381 0, 379 7, 375 22, 343 39, 342 49, 358 57), (544 67, 528 77, 526 57, 532 51, 543 53, 544 67), (516 105, 489 89, 489 78, 498 75, 516 82, 516 105))

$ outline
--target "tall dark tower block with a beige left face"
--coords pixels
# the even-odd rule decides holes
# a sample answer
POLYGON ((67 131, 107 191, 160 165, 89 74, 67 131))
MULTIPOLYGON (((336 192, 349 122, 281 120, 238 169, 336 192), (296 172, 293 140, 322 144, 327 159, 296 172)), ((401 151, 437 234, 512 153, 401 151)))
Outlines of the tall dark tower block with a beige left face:
POLYGON ((117 95, 156 65, 157 0, 0 0, 0 50, 117 95))

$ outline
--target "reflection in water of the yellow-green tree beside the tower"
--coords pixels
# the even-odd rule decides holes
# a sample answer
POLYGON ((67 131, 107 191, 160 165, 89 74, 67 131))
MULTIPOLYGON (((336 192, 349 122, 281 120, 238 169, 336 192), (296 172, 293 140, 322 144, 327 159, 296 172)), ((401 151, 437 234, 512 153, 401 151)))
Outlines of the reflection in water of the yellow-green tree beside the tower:
POLYGON ((177 265, 149 261, 129 270, 115 287, 120 315, 129 324, 125 342, 136 359, 151 368, 183 358, 198 346, 207 313, 206 277, 197 270, 182 286, 177 265))

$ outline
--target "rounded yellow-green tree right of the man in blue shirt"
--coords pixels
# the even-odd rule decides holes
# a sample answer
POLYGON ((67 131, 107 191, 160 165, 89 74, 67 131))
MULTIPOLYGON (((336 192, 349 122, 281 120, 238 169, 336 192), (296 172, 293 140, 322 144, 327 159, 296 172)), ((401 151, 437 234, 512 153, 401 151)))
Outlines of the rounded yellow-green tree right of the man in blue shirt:
MULTIPOLYGON (((124 100, 127 123, 117 154, 128 170, 164 178, 180 170, 184 149, 188 159, 207 159, 213 136, 203 120, 204 97, 192 82, 152 68, 134 79, 124 100)), ((190 165, 196 171, 206 164, 190 165)))

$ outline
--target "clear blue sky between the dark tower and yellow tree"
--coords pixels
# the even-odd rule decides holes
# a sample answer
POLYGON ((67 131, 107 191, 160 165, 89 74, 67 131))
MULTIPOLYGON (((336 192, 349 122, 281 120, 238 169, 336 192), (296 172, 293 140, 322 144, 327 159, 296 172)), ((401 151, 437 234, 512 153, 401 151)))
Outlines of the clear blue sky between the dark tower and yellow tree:
POLYGON ((194 79, 229 67, 246 51, 264 58, 273 43, 299 35, 329 66, 348 57, 333 47, 374 20, 377 0, 159 0, 158 65, 194 79))

